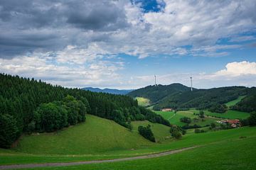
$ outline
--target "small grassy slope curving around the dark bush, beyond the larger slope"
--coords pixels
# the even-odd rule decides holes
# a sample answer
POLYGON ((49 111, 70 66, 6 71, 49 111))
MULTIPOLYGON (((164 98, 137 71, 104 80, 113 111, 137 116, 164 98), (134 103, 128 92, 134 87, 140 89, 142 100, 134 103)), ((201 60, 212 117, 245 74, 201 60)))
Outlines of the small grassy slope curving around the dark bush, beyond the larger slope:
POLYGON ((132 130, 134 132, 138 132, 139 125, 142 125, 142 126, 151 125, 151 130, 153 131, 154 137, 156 138, 157 141, 164 140, 164 139, 166 139, 166 137, 171 136, 170 127, 168 127, 166 125, 161 125, 158 123, 150 123, 147 120, 133 121, 132 122, 132 128, 133 128, 132 130))

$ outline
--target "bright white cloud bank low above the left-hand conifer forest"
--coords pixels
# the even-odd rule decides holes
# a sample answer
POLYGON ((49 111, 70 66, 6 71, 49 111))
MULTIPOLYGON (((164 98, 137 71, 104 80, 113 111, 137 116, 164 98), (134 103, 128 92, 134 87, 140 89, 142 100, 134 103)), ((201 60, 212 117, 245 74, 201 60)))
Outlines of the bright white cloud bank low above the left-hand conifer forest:
MULTIPOLYGON (((68 87, 112 86, 119 79, 117 71, 122 69, 122 62, 92 60, 73 65, 68 62, 58 64, 50 52, 33 53, 33 57, 22 56, 11 60, 0 59, 1 72, 18 74, 21 77, 42 79, 51 84, 68 87)), ((57 57, 58 59, 58 57, 57 57)))

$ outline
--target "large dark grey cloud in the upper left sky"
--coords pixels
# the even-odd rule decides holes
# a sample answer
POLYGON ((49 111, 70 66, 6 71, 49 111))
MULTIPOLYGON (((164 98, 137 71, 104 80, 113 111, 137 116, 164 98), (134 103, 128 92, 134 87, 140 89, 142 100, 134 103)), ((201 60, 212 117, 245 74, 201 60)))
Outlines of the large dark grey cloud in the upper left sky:
POLYGON ((114 1, 1 0, 0 57, 33 50, 60 50, 107 38, 107 32, 128 26, 124 10, 114 1), (106 32, 94 38, 87 31, 106 32))

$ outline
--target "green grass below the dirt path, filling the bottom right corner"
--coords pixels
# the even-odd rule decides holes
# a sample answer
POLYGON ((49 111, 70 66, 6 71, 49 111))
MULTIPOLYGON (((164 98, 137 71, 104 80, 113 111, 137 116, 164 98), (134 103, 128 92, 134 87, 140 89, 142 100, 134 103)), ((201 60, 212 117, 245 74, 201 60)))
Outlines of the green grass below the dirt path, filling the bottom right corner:
POLYGON ((40 169, 255 169, 256 137, 226 140, 165 157, 40 169), (189 168, 188 168, 189 167, 189 168))

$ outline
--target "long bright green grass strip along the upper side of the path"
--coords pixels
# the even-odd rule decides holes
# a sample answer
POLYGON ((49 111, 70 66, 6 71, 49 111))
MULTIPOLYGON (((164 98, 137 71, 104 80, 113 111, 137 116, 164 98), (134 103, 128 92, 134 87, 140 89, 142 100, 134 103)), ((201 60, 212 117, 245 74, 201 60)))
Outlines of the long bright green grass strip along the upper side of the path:
MULTIPOLYGON (((77 162, 81 160, 92 159, 112 159, 117 157, 131 157, 138 154, 149 154, 153 152, 161 152, 170 149, 179 149, 183 147, 191 147, 195 145, 208 145, 215 142, 224 142, 239 140, 241 136, 256 137, 256 127, 239 128, 231 130, 220 130, 216 132, 206 132, 183 136, 181 140, 174 140, 164 144, 152 145, 142 149, 135 150, 115 150, 112 153, 104 154, 87 154, 87 155, 35 155, 35 154, 18 154, 10 150, 0 149, 0 164, 24 164, 24 163, 40 163, 40 162, 77 162)), ((100 166, 102 167, 102 166, 100 166)))

